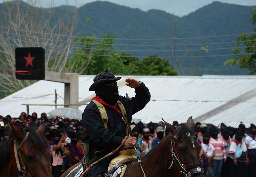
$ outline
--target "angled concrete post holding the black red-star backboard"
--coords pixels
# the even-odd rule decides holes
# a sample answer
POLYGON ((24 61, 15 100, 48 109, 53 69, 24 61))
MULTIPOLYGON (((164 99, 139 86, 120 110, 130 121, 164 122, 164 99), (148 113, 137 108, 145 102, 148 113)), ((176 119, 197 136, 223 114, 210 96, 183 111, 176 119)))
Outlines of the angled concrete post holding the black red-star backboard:
MULTIPOLYGON (((78 104, 78 76, 77 73, 45 71, 44 80, 64 83, 64 104, 78 104)), ((70 106, 70 108, 78 110, 78 105, 70 106)))

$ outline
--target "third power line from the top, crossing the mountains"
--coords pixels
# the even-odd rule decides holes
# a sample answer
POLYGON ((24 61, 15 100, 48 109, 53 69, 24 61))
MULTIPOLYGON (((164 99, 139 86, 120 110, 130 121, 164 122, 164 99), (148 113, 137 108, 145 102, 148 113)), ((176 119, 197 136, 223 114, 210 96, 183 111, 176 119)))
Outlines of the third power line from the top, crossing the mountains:
MULTIPOLYGON (((4 39, 10 39, 12 41, 16 41, 17 39, 13 39, 13 38, 7 38, 7 37, 0 37, 0 38, 4 38, 4 39)), ((29 42, 29 43, 35 43, 35 44, 44 44, 41 42, 32 42, 32 41, 27 41, 27 40, 19 40, 21 42, 29 42)), ((49 44, 49 46, 51 46, 49 44)), ((57 45, 55 44, 55 46, 59 46, 59 47, 65 47, 64 45, 57 45)), ((250 47, 256 47, 256 46, 250 46, 250 47)), ((73 47, 74 49, 90 49, 90 50, 106 50, 106 51, 126 51, 126 52, 184 52, 184 51, 202 51, 202 49, 187 49, 187 50, 123 50, 123 49, 97 49, 97 48, 85 48, 85 47, 73 47)), ((247 46, 243 46, 243 47, 236 47, 236 48, 247 48, 247 46)), ((210 48, 210 49, 206 49, 206 50, 227 50, 227 49, 233 49, 233 47, 227 47, 227 48, 210 48)))

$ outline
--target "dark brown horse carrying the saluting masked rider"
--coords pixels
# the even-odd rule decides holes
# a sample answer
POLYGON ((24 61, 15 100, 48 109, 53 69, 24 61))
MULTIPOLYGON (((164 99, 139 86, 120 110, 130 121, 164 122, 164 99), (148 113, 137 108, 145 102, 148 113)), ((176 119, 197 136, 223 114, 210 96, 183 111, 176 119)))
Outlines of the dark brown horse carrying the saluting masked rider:
MULTIPOLYGON (((131 162, 126 177, 204 177, 199 157, 201 146, 193 131, 192 117, 176 130, 171 124, 165 124, 171 130, 171 134, 142 158, 141 164, 145 174, 135 159, 131 162)), ((77 172, 75 167, 68 169, 62 177, 67 176, 72 170, 77 172)))

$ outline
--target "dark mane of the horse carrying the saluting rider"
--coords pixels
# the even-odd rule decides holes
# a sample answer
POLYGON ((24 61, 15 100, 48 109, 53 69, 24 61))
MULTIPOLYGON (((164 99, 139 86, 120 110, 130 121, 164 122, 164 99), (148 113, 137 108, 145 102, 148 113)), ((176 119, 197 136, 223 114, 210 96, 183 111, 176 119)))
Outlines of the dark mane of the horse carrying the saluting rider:
POLYGON ((176 142, 187 140, 187 139, 188 139, 188 136, 184 136, 184 135, 186 135, 187 132, 194 132, 194 131, 191 130, 190 128, 188 128, 188 127, 186 126, 186 124, 181 124, 181 125, 180 125, 180 129, 179 129, 178 132, 173 133, 173 134, 169 134, 168 136, 166 136, 160 143, 158 143, 158 144, 157 144, 155 147, 153 147, 144 157, 142 157, 142 159, 145 159, 145 158, 147 158, 147 156, 149 156, 150 154, 152 154, 152 153, 154 152, 154 150, 155 150, 161 143, 163 143, 164 140, 167 139, 167 138, 168 138, 168 140, 169 140, 169 139, 171 139, 171 138, 173 138, 173 137, 175 136, 175 137, 177 137, 176 142))

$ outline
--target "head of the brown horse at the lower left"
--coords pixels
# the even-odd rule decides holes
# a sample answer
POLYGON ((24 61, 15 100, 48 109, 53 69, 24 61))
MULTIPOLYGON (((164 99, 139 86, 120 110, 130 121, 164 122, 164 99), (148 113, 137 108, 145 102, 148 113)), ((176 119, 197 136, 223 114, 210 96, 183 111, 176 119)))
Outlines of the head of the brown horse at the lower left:
MULTIPOLYGON (((47 142, 43 138, 44 126, 40 125, 37 131, 29 131, 29 133, 22 132, 11 123, 9 123, 9 126, 14 136, 12 144, 14 152, 10 153, 17 157, 17 167, 20 165, 21 170, 27 177, 51 177, 50 152, 47 142)), ((22 174, 21 171, 19 173, 22 174)))

